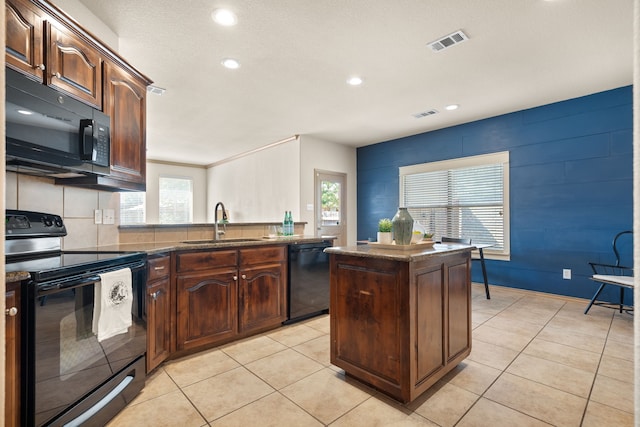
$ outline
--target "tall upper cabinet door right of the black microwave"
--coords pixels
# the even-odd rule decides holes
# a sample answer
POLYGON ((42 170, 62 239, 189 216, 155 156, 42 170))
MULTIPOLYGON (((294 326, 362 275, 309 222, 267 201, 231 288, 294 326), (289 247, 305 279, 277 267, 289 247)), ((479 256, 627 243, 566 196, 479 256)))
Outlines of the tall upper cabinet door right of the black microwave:
POLYGON ((141 185, 146 179, 146 84, 105 62, 105 114, 111 117, 111 178, 141 185))

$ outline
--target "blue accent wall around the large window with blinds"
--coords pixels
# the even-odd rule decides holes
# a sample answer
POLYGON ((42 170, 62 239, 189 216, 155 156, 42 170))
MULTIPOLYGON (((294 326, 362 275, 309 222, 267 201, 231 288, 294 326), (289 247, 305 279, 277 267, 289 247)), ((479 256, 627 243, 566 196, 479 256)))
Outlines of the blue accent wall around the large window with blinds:
POLYGON ((613 237, 632 229, 632 133, 628 86, 361 147, 358 240, 397 211, 400 166, 509 151, 511 260, 487 260, 489 283, 590 298, 587 262, 613 262, 613 237))

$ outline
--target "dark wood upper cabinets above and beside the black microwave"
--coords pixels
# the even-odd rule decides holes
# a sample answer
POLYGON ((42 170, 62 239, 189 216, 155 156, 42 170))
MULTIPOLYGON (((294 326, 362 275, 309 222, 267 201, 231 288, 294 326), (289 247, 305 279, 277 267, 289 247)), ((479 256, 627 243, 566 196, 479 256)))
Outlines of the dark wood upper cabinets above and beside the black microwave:
POLYGON ((151 80, 45 0, 6 0, 5 8, 7 66, 111 117, 110 175, 56 178, 56 184, 145 191, 151 80))

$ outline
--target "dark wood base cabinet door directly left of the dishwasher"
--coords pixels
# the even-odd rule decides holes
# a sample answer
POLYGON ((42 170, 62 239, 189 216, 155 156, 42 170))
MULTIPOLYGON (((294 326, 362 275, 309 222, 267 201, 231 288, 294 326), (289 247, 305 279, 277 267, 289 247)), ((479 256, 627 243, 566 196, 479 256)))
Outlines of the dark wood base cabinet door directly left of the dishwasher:
POLYGON ((239 332, 280 325, 286 320, 286 273, 282 263, 240 270, 239 332))

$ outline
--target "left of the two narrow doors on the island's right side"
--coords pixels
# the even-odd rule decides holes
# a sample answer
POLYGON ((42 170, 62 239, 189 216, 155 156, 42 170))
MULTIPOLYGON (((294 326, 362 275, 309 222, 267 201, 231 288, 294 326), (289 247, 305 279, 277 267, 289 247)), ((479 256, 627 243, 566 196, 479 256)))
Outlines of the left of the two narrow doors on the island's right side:
POLYGON ((415 346, 418 385, 445 366, 445 282, 441 264, 419 269, 415 284, 415 346))

